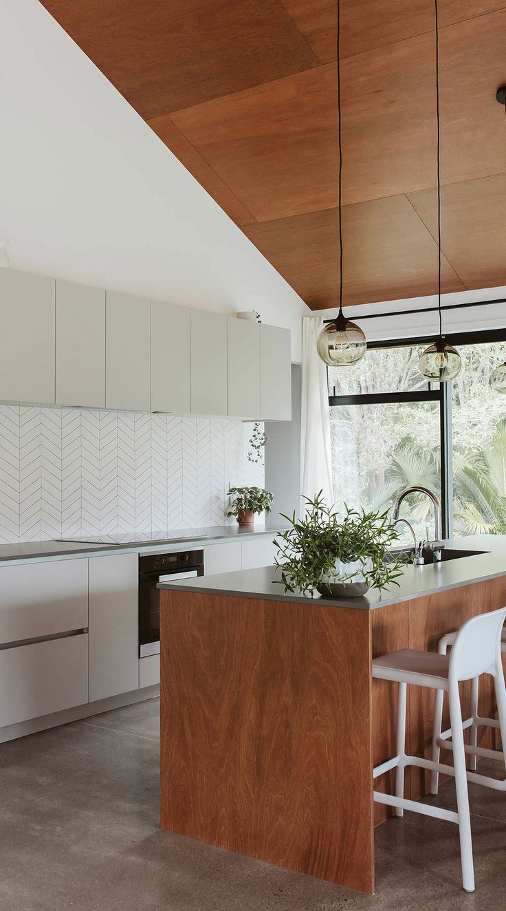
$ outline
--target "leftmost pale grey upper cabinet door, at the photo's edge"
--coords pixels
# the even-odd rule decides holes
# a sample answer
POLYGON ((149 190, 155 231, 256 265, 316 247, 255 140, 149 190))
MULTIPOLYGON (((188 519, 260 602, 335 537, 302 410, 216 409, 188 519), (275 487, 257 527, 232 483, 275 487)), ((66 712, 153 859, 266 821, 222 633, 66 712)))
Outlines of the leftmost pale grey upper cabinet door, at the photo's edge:
POLYGON ((55 280, 0 269, 0 400, 55 404, 55 280))

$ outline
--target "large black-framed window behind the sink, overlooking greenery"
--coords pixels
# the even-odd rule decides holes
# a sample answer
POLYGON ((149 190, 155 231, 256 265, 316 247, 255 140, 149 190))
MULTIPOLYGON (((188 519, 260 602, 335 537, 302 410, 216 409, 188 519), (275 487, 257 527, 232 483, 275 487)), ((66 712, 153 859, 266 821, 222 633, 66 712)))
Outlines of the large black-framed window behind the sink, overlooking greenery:
MULTIPOLYGON (((426 340, 373 343, 355 366, 329 368, 338 506, 391 510, 406 487, 426 486, 440 499, 445 535, 506 534, 506 396, 490 385, 506 360, 506 331, 481 338, 451 336, 462 358, 452 385, 421 376, 426 340)), ((419 539, 433 537, 428 497, 408 497, 402 515, 419 539)), ((408 529, 399 530, 409 541, 408 529)))

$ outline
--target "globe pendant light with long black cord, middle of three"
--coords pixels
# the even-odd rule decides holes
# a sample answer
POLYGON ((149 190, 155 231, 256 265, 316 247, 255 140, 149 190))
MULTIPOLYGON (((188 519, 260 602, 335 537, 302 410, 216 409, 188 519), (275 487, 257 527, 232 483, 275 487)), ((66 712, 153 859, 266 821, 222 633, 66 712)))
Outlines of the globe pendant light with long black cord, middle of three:
POLYGON ((444 338, 441 312, 441 179, 440 179, 440 32, 438 0, 434 0, 436 23, 436 119, 438 124, 438 311, 440 337, 420 354, 420 374, 432 383, 450 383, 460 374, 460 354, 444 338))

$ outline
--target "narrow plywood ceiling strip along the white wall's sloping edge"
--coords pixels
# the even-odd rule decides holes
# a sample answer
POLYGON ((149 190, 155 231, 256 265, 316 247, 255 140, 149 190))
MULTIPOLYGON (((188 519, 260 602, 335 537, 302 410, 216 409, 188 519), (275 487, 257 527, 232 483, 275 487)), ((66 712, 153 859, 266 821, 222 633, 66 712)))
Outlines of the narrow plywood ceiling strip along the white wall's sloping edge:
POLYGON ((198 183, 207 189, 209 196, 218 202, 218 206, 227 212, 228 216, 236 222, 237 225, 246 225, 255 219, 251 212, 243 206, 237 196, 234 196, 231 189, 223 182, 218 174, 209 167, 197 149, 193 148, 187 138, 177 129, 177 126, 169 118, 168 114, 162 114, 161 117, 152 118, 147 123, 157 133, 157 136, 164 142, 167 148, 177 159, 185 166, 198 183))

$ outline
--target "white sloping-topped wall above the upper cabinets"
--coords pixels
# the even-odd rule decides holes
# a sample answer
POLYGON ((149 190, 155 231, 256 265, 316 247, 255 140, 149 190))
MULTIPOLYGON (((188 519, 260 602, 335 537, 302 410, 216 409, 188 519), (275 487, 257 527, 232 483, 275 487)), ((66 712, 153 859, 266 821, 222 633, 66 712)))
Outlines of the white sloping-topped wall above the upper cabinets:
POLYGON ((309 309, 38 0, 0 0, 0 240, 15 269, 292 331, 309 309))

